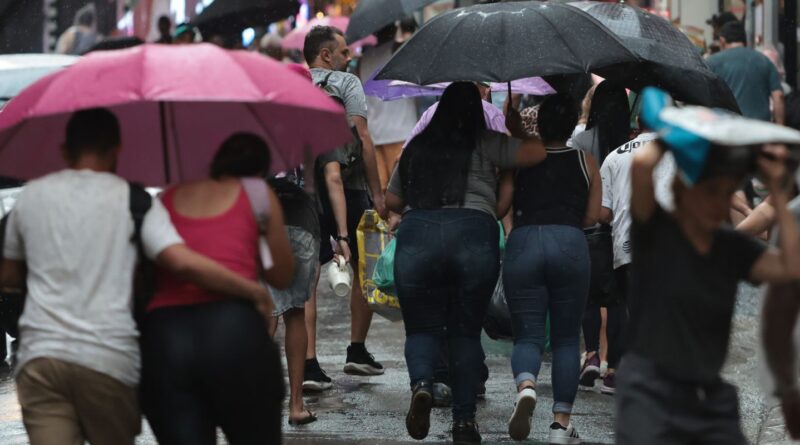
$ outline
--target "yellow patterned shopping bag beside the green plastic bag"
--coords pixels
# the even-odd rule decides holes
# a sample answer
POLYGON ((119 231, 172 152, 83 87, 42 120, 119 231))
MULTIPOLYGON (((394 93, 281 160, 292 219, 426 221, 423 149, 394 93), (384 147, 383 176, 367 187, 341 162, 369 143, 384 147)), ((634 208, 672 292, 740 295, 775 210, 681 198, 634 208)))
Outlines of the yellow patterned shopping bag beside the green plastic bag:
POLYGON ((361 217, 356 232, 358 272, 361 280, 359 285, 369 308, 387 320, 402 320, 403 315, 400 312, 397 296, 383 292, 373 280, 378 260, 391 240, 389 224, 374 210, 367 210, 361 217))

